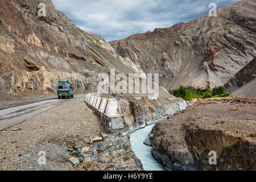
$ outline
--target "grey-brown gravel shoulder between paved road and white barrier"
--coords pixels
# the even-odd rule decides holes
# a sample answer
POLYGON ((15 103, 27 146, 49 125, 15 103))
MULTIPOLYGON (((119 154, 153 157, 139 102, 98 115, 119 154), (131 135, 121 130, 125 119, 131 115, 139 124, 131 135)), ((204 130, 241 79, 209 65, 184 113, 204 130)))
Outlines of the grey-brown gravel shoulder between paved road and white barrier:
POLYGON ((0 169, 74 170, 64 147, 86 146, 100 131, 101 121, 84 98, 73 98, 0 131, 0 169), (38 164, 39 151, 46 152, 46 165, 38 164))

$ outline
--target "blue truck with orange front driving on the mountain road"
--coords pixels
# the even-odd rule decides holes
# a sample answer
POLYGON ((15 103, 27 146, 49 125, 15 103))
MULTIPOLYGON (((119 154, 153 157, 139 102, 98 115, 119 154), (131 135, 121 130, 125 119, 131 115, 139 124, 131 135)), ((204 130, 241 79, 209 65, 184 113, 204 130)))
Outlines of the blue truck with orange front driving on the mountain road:
POLYGON ((59 81, 57 85, 58 98, 73 98, 75 94, 75 85, 71 81, 59 81))

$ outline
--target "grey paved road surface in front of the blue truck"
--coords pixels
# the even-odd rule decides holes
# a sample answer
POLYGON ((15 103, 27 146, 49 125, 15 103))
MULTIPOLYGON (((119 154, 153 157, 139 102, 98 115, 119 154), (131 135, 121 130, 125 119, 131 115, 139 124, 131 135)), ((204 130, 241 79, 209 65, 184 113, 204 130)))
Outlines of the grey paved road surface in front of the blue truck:
MULTIPOLYGON (((79 95, 76 97, 85 97, 79 95)), ((57 106, 68 99, 46 98, 36 101, 24 101, 18 104, 0 106, 0 129, 14 126, 46 109, 57 106)))

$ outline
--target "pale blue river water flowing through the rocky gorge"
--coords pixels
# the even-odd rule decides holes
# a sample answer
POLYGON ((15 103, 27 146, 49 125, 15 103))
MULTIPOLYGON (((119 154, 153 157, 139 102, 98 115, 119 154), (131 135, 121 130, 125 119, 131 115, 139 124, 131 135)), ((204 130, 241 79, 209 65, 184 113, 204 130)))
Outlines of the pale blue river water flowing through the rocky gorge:
POLYGON ((152 127, 155 125, 146 126, 144 129, 134 131, 130 134, 131 148, 135 152, 137 158, 142 162, 145 171, 163 171, 162 164, 156 162, 151 154, 152 148, 143 144, 144 140, 150 134, 152 127))

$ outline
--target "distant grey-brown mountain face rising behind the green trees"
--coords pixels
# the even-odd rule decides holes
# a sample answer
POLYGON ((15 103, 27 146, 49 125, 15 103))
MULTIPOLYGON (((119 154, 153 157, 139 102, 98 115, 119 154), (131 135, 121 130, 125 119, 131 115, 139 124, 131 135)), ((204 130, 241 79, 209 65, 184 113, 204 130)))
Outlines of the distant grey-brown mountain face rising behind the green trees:
POLYGON ((146 73, 160 73, 161 86, 224 85, 255 57, 256 2, 243 0, 170 28, 110 42, 146 73))

